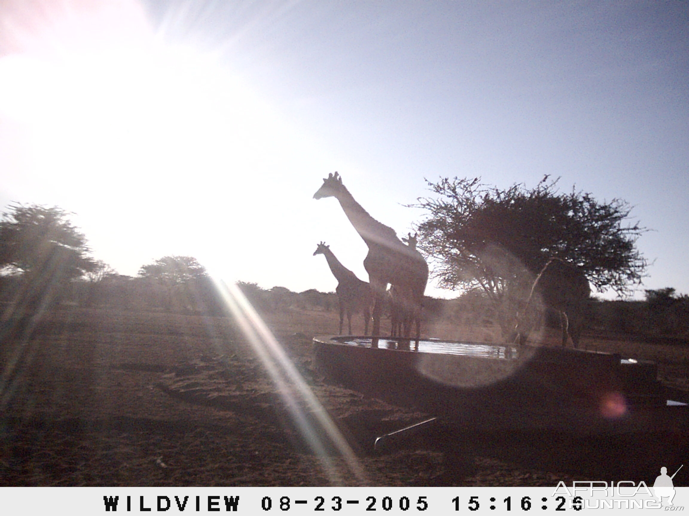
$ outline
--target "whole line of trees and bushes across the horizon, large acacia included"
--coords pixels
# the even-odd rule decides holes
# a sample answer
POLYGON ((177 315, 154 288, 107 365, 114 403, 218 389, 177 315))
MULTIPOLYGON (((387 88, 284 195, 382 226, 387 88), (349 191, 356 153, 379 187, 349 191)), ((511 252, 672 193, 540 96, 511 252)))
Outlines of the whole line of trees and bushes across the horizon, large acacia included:
MULTIPOLYGON (((640 281, 646 262, 635 251, 633 241, 641 228, 621 226, 621 220, 628 214, 624 204, 616 202, 612 207, 600 208, 588 196, 582 200, 578 194, 571 194, 558 197, 559 201, 551 206, 546 201, 554 195, 552 184, 541 184, 531 193, 518 188, 506 193, 477 190, 478 186, 476 181, 445 180, 434 188, 442 195, 449 195, 449 200, 421 200, 421 206, 429 209, 432 215, 419 226, 424 237, 423 246, 431 257, 444 264, 436 268, 436 275, 446 286, 462 286, 465 290, 453 300, 426 297, 426 319, 443 318, 457 324, 501 324, 504 305, 496 300, 504 297, 511 283, 516 282, 515 271, 518 273, 519 269, 505 268, 504 261, 497 264, 494 258, 498 251, 491 245, 495 241, 499 244, 497 248, 504 251, 502 256, 522 257, 520 263, 528 261, 534 266, 548 253, 560 249, 582 264, 598 286, 608 284, 618 290, 624 288, 624 278, 632 283, 640 281), (467 196, 473 196, 473 215, 465 213, 469 209, 466 206, 462 208, 467 196), (577 199, 583 204, 577 204, 577 199), (543 230, 555 215, 537 221, 540 211, 531 203, 541 206, 544 202, 551 206, 551 215, 565 208, 570 215, 578 213, 573 206, 579 206, 579 212, 599 215, 597 224, 588 230, 586 224, 579 224, 582 228, 580 240, 587 241, 588 231, 592 241, 608 238, 615 245, 626 244, 618 249, 616 257, 608 257, 608 261, 590 258, 602 255, 602 251, 582 252, 577 259, 579 251, 567 251, 562 242, 564 237, 555 229, 543 230), (508 217, 509 206, 518 208, 513 219, 508 217), (520 217, 523 217, 522 222, 520 217), (507 224, 514 227, 505 230, 507 224), (524 237, 529 224, 541 228, 543 234, 539 235, 539 242, 524 237), (513 233, 518 228, 521 228, 522 237, 515 239, 513 233), (616 263, 623 266, 619 272, 615 272, 616 263), (610 268, 608 272, 605 264, 610 268)), ((141 266, 136 277, 120 275, 103 261, 90 257, 87 240, 72 225, 69 215, 57 207, 22 204, 10 206, 10 211, 3 215, 0 220, 0 314, 3 321, 38 314, 60 305, 227 314, 212 279, 194 257, 165 256, 141 266)), ((264 314, 288 310, 331 311, 338 306, 334 292, 314 289, 292 292, 280 286, 265 289, 245 281, 237 285, 254 308, 264 314)), ((592 330, 689 338, 689 297, 677 294, 674 288, 646 290, 645 301, 592 300, 591 306, 592 330)))

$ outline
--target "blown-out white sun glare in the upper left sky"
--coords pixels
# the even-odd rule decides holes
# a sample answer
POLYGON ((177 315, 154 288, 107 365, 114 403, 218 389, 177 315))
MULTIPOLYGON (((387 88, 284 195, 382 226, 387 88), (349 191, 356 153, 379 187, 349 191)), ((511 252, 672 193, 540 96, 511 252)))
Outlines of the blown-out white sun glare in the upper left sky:
MULTIPOLYGON (((79 213, 94 252, 109 256, 123 241, 143 259, 159 248, 200 256, 199 243, 227 245, 225 221, 260 226, 267 214, 247 193, 285 169, 294 131, 219 55, 164 41, 135 2, 85 4, 10 23, 0 117, 21 126, 14 147, 27 149, 11 195, 79 213)), ((248 232, 234 228, 236 239, 248 232)))

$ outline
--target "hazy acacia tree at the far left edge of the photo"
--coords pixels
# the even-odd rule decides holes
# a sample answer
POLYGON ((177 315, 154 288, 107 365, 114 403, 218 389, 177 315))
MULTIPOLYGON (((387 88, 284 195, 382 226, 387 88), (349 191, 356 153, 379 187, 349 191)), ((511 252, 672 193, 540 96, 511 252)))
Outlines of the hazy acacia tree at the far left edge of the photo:
POLYGON ((86 237, 57 206, 15 204, 0 220, 0 267, 21 279, 19 309, 34 312, 59 300, 73 279, 94 270, 86 237))

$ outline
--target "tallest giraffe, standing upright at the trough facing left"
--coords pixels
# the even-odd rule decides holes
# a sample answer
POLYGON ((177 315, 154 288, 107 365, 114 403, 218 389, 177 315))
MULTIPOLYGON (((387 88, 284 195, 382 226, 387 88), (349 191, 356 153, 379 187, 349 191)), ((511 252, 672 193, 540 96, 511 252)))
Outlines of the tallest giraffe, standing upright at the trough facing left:
POLYGON ((388 284, 394 286, 402 302, 402 311, 410 316, 403 316, 404 337, 411 334, 411 321, 416 321, 416 339, 421 334, 421 306, 429 277, 429 267, 418 250, 406 246, 398 239, 392 228, 381 224, 371 217, 362 206, 354 200, 351 193, 342 184, 342 178, 336 172, 329 174, 316 193, 314 199, 335 197, 345 211, 345 215, 357 233, 368 246, 369 252, 364 259, 364 268, 369 273, 369 283, 374 296, 373 303, 373 345, 377 345, 380 336, 380 314, 388 284))

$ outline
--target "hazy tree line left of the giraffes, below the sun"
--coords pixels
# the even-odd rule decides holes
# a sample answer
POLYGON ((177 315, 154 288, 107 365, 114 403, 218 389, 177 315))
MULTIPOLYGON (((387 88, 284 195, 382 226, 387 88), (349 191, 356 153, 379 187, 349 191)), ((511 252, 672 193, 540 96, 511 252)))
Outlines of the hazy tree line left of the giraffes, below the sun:
MULTIPOLYGON (((3 320, 21 319, 58 305, 222 315, 225 305, 194 257, 165 256, 141 266, 136 277, 118 274, 90 257, 86 237, 56 206, 13 204, 0 220, 0 303, 3 320)), ((334 293, 238 286, 263 312, 331 310, 334 293)))

